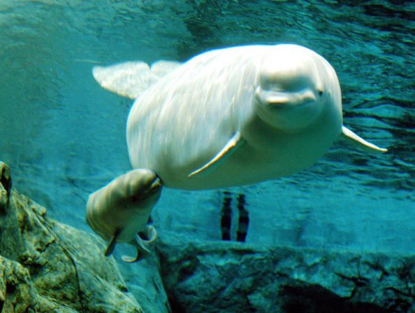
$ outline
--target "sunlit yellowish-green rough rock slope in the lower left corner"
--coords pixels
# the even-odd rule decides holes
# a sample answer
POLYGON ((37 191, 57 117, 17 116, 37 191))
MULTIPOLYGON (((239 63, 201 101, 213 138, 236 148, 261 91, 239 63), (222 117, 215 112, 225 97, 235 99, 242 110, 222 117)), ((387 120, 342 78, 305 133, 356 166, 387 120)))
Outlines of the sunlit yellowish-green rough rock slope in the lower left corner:
POLYGON ((104 248, 11 188, 0 162, 0 312, 143 312, 104 248))

